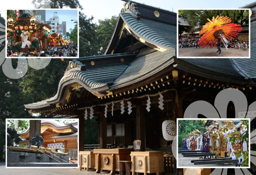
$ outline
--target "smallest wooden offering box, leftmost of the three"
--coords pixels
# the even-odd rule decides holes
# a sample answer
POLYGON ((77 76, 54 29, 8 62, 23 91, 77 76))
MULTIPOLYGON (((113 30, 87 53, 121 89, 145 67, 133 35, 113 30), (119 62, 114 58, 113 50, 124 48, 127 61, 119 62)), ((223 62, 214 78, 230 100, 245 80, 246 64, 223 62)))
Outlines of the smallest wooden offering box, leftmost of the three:
POLYGON ((86 171, 89 171, 89 168, 95 168, 95 154, 93 151, 79 151, 80 160, 79 160, 79 170, 86 168, 86 171))

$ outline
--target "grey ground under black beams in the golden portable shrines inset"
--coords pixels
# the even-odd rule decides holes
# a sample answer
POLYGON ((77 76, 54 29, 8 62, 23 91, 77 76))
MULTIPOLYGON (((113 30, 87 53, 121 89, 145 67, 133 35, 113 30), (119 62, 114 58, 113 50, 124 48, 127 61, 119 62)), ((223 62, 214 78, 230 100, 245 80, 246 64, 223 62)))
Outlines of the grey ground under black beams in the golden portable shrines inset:
MULTIPOLYGON (((210 165, 194 165, 194 163, 191 163, 191 160, 199 160, 199 157, 194 158, 184 158, 182 154, 178 155, 178 165, 179 167, 220 167, 220 165, 217 164, 210 164, 210 165)), ((222 166, 223 167, 223 166, 222 166)), ((235 167, 235 165, 228 165, 225 164, 225 167, 235 167)))

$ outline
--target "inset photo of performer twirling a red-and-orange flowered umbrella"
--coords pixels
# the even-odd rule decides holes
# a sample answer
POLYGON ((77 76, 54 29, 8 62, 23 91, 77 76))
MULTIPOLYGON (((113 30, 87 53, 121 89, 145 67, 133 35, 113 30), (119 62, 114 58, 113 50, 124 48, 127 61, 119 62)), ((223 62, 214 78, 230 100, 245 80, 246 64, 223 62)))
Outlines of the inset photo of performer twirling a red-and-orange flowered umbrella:
POLYGON ((250 58, 250 9, 178 9, 177 58, 250 58))

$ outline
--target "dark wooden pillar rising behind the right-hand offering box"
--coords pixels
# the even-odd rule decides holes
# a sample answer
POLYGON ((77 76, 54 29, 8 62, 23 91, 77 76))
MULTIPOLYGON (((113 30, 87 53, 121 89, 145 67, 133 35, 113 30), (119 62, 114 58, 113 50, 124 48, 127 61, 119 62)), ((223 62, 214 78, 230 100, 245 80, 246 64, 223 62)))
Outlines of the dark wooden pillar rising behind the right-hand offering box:
POLYGON ((136 105, 136 139, 141 140, 141 150, 145 151, 145 115, 140 102, 136 105))

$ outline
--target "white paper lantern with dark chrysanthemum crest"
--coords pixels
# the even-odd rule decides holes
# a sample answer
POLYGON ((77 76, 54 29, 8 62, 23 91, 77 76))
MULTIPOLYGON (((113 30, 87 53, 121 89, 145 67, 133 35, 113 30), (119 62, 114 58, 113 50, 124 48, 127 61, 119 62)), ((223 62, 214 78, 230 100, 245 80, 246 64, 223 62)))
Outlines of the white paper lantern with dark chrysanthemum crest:
POLYGON ((174 140, 177 135, 176 122, 174 122, 174 120, 165 120, 162 123, 162 133, 165 140, 174 140))

